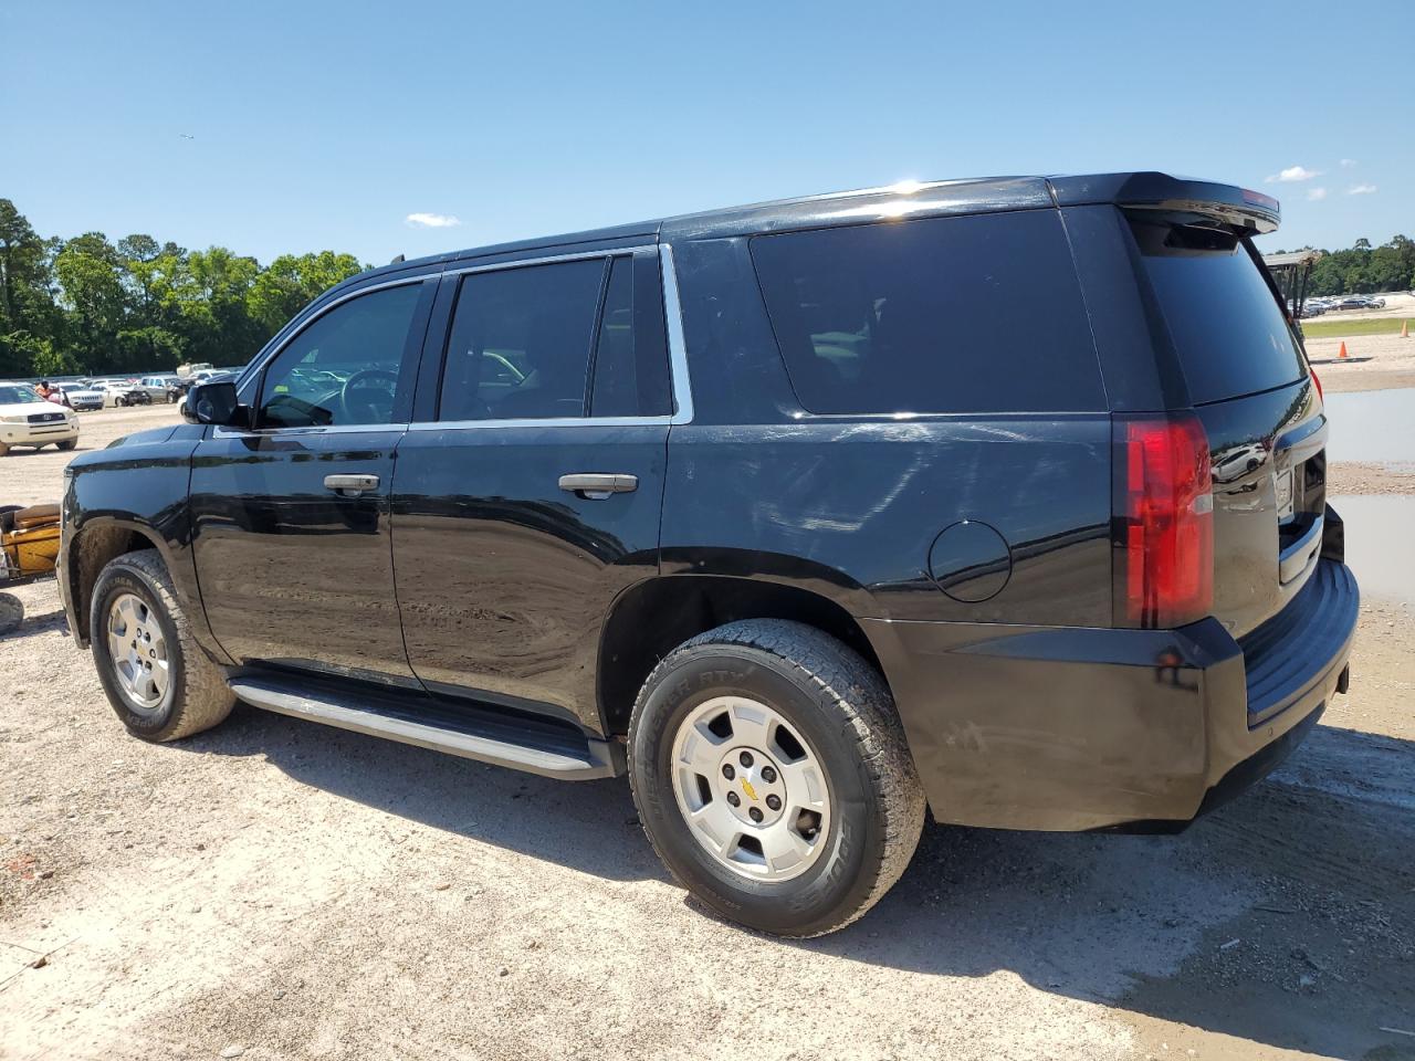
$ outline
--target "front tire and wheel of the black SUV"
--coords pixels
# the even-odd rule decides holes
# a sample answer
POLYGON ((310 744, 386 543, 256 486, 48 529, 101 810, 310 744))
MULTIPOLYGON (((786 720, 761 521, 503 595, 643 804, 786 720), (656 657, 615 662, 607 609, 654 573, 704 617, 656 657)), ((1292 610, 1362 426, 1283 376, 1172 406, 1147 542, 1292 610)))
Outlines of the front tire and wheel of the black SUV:
MULTIPOLYGON (((99 572, 89 603, 89 632, 93 663, 108 702, 134 737, 154 743, 180 740, 209 730, 231 713, 236 697, 221 669, 207 658, 192 637, 187 615, 177 603, 171 576, 156 549, 125 553, 99 572), (143 639, 142 631, 146 631, 149 644, 156 645, 149 652, 160 651, 166 658, 166 683, 150 703, 142 703, 137 693, 125 688, 120 666, 112 655, 110 610, 123 598, 137 601, 136 605, 130 604, 129 611, 130 620, 136 622, 127 627, 125 637, 132 631, 134 642, 139 642, 143 639), (160 638, 151 637, 154 632, 160 638)), ((154 655, 151 659, 142 658, 140 662, 157 663, 161 659, 154 655)), ((130 663, 127 666, 132 669, 130 663)), ((149 672, 154 669, 161 673, 156 666, 149 668, 149 672)), ((153 692, 151 686, 149 692, 153 692)))

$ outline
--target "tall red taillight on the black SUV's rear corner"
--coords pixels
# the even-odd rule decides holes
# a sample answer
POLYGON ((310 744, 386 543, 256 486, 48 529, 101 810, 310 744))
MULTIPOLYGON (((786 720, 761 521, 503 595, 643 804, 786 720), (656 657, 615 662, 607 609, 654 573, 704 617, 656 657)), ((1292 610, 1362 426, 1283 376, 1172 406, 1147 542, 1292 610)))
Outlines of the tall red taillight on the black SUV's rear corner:
POLYGON ((1116 618, 1176 627, 1214 603, 1208 439, 1189 413, 1115 417, 1116 618))

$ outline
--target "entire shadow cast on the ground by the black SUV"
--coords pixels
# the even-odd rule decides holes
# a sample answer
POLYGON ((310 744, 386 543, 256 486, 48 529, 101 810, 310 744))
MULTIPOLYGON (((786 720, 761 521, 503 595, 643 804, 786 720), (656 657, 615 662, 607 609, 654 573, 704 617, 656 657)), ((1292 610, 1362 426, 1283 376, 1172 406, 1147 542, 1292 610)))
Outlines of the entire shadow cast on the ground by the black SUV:
MULTIPOLYGON (((668 880, 623 781, 565 784, 246 707, 184 744, 260 754, 303 784, 604 879, 668 880)), ((1415 1030, 1412 811, 1415 746, 1319 726, 1279 774, 1179 836, 930 825, 860 922, 767 944, 920 975, 1010 972, 1140 1024, 1269 1047, 1415 1057, 1380 1030, 1415 1030)))

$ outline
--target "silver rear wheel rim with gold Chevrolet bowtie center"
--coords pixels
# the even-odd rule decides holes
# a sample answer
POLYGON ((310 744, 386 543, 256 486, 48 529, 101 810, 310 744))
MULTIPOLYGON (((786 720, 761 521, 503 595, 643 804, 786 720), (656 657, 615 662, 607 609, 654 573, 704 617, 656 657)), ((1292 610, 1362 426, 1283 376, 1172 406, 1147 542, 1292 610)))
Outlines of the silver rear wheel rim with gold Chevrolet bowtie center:
POLYGON ((733 873, 791 880, 825 849, 825 768, 775 709, 741 696, 700 703, 678 727, 671 768, 689 830, 733 873))

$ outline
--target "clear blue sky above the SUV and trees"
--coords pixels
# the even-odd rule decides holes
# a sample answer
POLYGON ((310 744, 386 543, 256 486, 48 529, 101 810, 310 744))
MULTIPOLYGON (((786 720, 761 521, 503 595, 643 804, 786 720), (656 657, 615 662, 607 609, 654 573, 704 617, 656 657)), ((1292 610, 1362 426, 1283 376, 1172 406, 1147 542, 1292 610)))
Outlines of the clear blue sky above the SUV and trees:
POLYGON ((382 263, 904 178, 1157 168, 1278 195, 1265 249, 1380 243, 1415 235, 1411 13, 0 0, 0 195, 44 235, 382 263))

